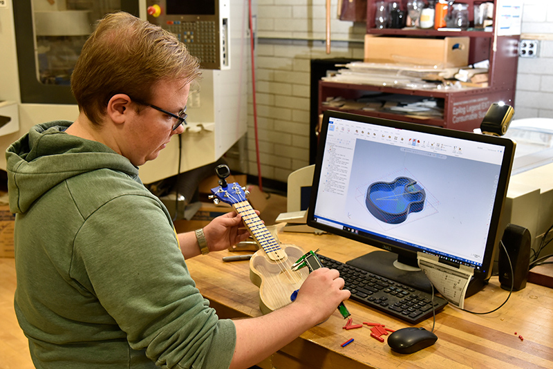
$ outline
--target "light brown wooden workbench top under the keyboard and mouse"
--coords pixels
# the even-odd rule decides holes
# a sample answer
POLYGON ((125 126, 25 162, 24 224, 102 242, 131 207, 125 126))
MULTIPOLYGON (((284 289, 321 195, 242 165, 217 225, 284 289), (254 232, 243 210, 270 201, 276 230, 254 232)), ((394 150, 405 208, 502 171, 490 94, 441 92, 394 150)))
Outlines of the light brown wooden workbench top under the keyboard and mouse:
MULTIPOLYGON (((329 234, 299 234, 279 231, 283 243, 348 261, 373 248, 329 234)), ((247 252, 245 252, 247 253, 247 252)), ((259 316, 259 290, 250 282, 249 262, 223 263, 218 252, 187 261, 200 292, 209 299, 219 316, 259 316)), ((499 287, 498 278, 465 301, 465 309, 487 312, 497 308, 509 294, 499 287)), ((376 322, 397 330, 408 326, 355 301, 346 301, 353 323, 376 322)), ((509 301, 491 314, 476 315, 448 305, 436 314, 435 345, 413 354, 391 352, 373 339, 367 326, 344 330, 346 321, 335 312, 326 322, 312 328, 283 350, 259 363, 264 369, 296 368, 553 368, 553 290, 528 283, 513 292, 509 301), (523 340, 519 339, 519 335, 523 340), (355 339, 341 348, 341 343, 355 339)), ((431 330, 432 319, 417 326, 431 330)), ((386 338, 386 336, 384 336, 386 338)))

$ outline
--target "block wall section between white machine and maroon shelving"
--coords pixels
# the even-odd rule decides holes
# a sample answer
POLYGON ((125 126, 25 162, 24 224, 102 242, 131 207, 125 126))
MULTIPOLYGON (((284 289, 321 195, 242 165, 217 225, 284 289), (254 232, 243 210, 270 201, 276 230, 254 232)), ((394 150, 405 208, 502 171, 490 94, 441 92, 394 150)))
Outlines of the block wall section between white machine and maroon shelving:
MULTIPOLYGON (((326 54, 325 0, 258 0, 255 50, 261 176, 287 182, 309 164, 310 60, 363 58, 365 23, 340 21, 331 9, 331 53, 326 54)), ((250 76, 251 77, 251 76, 250 76)), ((258 175, 251 80, 247 173, 258 175)))

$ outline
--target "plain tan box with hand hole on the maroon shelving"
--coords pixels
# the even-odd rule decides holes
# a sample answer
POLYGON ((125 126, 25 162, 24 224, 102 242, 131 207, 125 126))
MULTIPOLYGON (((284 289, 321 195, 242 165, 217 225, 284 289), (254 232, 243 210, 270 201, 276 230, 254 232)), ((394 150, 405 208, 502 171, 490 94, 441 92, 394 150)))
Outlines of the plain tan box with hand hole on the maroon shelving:
POLYGON ((438 68, 467 66, 469 46, 469 37, 417 39, 365 35, 364 61, 438 66, 438 68))

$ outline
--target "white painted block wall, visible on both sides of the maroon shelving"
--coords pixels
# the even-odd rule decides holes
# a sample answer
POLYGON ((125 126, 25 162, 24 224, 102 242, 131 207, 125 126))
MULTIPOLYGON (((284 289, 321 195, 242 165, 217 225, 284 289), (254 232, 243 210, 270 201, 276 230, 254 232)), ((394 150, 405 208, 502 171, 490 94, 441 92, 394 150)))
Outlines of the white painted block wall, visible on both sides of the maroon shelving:
MULTIPOLYGON (((286 182, 308 165, 310 59, 363 57, 364 23, 336 19, 326 55, 325 0, 257 0, 256 100, 263 178, 286 182)), ((523 33, 551 34, 540 57, 519 59, 516 118, 553 117, 553 1, 525 0, 523 33)), ((250 86, 251 91, 251 86, 250 86)), ((252 95, 249 99, 247 173, 257 175, 252 95)))

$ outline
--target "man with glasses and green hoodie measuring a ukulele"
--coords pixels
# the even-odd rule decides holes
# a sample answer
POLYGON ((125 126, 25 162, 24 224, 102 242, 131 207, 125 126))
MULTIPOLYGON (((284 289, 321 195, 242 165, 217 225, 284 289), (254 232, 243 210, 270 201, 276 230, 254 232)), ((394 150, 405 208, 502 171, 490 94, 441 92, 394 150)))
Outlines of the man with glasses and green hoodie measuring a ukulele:
POLYGON ((102 19, 72 76, 75 122, 39 124, 10 146, 17 213, 15 311, 37 368, 247 368, 336 312, 336 270, 310 274, 290 305, 218 319, 186 258, 247 238, 229 213, 176 234, 138 166, 182 133, 198 62, 161 28, 102 19))

